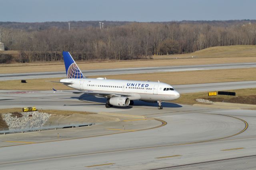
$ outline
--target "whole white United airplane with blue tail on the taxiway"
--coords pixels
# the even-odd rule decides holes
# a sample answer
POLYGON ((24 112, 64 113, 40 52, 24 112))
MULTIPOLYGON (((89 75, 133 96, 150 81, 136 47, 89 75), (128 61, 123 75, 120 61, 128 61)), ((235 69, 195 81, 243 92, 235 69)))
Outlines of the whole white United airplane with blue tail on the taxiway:
MULTIPOLYGON (((105 97, 106 108, 112 106, 126 107, 134 104, 134 100, 158 103, 158 109, 163 109, 162 101, 176 100, 180 97, 171 85, 154 81, 133 81, 106 79, 106 77, 91 79, 83 75, 68 51, 62 52, 66 68, 66 79, 52 81, 62 83, 96 97, 105 97)), ((53 89, 54 92, 58 91, 53 89)), ((80 93, 80 92, 78 92, 80 93)))

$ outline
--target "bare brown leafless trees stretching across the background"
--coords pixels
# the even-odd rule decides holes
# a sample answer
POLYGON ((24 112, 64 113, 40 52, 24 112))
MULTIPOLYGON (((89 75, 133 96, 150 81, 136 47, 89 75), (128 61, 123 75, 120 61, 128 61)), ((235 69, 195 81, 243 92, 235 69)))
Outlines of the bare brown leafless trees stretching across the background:
POLYGON ((0 42, 6 50, 20 51, 17 62, 58 61, 62 59, 61 51, 70 51, 75 60, 102 61, 190 53, 214 46, 255 45, 256 24, 235 23, 128 22, 102 30, 86 26, 71 27, 70 31, 54 26, 44 30, 0 27, 0 42))

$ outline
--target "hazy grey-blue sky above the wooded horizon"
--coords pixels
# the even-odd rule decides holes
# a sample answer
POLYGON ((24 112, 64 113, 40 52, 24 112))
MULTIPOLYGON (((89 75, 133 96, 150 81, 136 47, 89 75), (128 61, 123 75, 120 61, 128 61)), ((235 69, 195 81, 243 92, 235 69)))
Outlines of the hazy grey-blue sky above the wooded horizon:
POLYGON ((0 0, 0 21, 256 19, 256 0, 0 0))

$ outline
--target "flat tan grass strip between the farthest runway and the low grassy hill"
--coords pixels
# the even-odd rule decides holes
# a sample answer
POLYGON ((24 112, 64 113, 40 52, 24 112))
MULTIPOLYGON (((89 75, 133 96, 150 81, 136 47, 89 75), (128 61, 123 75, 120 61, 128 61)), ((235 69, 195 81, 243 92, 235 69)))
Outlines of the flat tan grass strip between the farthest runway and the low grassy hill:
MULTIPOLYGON (((194 58, 194 59, 161 59, 145 61, 110 61, 97 63, 77 63, 81 70, 89 69, 114 69, 114 68, 132 68, 132 67, 157 67, 172 65, 199 65, 199 64, 217 64, 217 63, 243 63, 256 62, 256 57, 230 57, 230 58, 194 58)), ((37 64, 27 66, 8 66, 0 65, 0 74, 4 73, 28 73, 44 71, 65 71, 64 63, 37 64)), ((86 72, 84 72, 86 75, 86 72)))

